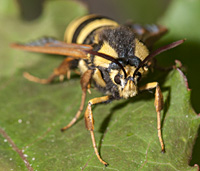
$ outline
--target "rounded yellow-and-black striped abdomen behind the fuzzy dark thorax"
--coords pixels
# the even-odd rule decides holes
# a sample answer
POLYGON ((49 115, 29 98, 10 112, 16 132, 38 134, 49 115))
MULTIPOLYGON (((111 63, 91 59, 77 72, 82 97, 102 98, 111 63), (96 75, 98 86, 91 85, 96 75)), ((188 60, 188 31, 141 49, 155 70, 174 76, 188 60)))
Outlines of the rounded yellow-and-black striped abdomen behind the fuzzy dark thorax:
POLYGON ((107 26, 118 26, 118 23, 103 16, 87 15, 72 21, 66 31, 64 40, 67 43, 86 44, 90 35, 97 29, 107 26))

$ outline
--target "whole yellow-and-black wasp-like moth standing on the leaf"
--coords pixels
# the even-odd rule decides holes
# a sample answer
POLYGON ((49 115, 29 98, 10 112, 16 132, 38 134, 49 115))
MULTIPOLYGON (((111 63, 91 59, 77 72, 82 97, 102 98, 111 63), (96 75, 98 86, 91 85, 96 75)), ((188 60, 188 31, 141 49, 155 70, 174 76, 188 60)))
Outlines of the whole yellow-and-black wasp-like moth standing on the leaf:
POLYGON ((160 86, 158 82, 147 83, 142 87, 137 85, 153 66, 156 55, 184 42, 179 40, 150 52, 152 45, 166 32, 167 29, 159 25, 141 26, 128 23, 121 26, 108 17, 91 14, 72 21, 66 29, 64 41, 43 37, 26 44, 15 43, 12 47, 67 56, 47 79, 24 73, 24 76, 33 82, 48 84, 55 77, 63 80, 65 76, 70 78, 71 70, 79 69, 82 87, 81 104, 75 117, 61 129, 62 131, 70 128, 79 118, 91 84, 104 94, 102 97, 89 100, 84 116, 95 154, 99 161, 107 166, 97 150, 92 106, 122 98, 128 99, 144 90, 155 89, 158 137, 162 151, 165 150, 161 135, 163 96, 160 86))

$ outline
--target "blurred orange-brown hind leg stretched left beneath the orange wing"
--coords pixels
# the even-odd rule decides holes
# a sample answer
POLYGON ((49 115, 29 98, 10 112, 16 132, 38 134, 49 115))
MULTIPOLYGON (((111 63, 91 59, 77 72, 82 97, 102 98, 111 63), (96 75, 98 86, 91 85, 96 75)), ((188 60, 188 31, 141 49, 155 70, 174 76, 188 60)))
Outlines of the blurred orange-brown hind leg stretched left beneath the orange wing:
POLYGON ((67 75, 67 78, 70 78, 70 69, 72 67, 72 63, 75 59, 72 57, 67 57, 65 60, 60 64, 58 68, 55 68, 53 73, 47 78, 47 79, 40 79, 38 77, 35 77, 27 72, 24 73, 24 77, 28 79, 29 81, 37 82, 40 84, 48 84, 53 81, 53 79, 57 76, 60 77, 60 80, 62 81, 64 79, 64 76, 67 75))

